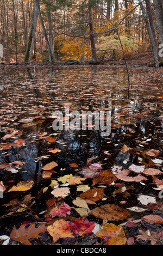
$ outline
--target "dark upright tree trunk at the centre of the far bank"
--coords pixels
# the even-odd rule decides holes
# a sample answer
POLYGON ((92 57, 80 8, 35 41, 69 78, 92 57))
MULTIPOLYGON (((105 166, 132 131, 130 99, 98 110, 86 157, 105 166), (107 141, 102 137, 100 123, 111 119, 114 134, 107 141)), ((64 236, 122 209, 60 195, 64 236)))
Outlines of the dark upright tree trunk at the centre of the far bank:
POLYGON ((95 46, 95 34, 93 31, 93 19, 92 19, 92 5, 89 3, 89 27, 90 27, 90 42, 91 42, 91 49, 92 49, 92 62, 97 63, 97 51, 95 46))

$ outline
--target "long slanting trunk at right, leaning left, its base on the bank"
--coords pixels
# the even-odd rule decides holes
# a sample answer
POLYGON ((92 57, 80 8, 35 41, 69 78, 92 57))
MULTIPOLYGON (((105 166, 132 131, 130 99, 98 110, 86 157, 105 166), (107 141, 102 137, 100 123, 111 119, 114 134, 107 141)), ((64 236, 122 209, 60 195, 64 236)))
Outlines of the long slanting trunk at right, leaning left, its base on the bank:
POLYGON ((141 0, 139 0, 139 3, 140 3, 140 8, 142 10, 143 17, 145 19, 145 23, 146 23, 146 27, 147 27, 147 31, 148 31, 148 35, 149 35, 149 40, 151 41, 154 65, 155 65, 155 68, 159 68, 158 49, 157 49, 157 46, 155 45, 155 39, 153 38, 152 29, 151 29, 151 26, 148 21, 148 16, 147 16, 146 10, 143 7, 141 0))

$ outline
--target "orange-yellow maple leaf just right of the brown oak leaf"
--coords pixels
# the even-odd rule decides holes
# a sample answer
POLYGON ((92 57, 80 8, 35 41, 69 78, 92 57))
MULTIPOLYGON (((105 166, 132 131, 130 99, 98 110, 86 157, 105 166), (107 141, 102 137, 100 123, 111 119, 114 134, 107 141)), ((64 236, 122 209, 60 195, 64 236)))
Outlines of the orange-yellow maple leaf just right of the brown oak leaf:
POLYGON ((47 231, 53 237, 53 241, 57 242, 60 238, 74 237, 70 231, 72 223, 65 220, 57 220, 53 225, 47 227, 47 231))

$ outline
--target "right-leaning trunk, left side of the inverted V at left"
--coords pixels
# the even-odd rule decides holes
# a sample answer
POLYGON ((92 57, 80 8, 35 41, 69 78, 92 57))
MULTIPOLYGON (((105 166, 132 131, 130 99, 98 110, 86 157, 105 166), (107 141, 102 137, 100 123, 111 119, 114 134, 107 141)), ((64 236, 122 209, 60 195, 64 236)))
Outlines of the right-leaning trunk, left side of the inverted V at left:
POLYGON ((33 46, 35 41, 35 33, 36 33, 36 25, 37 25, 37 17, 38 17, 38 12, 37 12, 36 0, 35 0, 31 21, 30 21, 30 31, 28 36, 28 44, 26 47, 24 62, 30 62, 32 58, 32 51, 33 51, 33 46))

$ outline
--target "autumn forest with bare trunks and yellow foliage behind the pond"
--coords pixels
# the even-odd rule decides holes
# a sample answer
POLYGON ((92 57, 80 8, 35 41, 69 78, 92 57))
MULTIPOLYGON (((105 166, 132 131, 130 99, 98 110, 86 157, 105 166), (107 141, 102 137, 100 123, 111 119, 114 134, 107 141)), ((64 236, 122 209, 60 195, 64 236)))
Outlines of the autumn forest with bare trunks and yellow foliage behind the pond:
POLYGON ((5 63, 98 63, 152 52, 163 43, 162 0, 0 0, 5 63))

